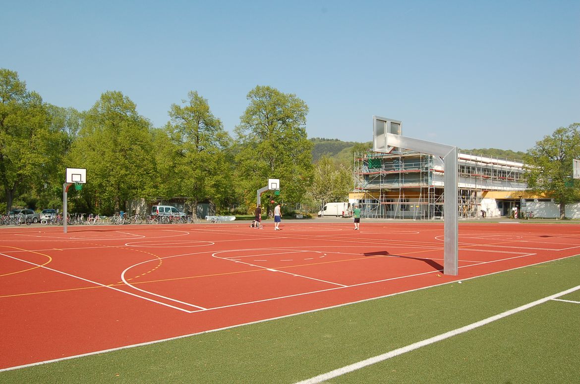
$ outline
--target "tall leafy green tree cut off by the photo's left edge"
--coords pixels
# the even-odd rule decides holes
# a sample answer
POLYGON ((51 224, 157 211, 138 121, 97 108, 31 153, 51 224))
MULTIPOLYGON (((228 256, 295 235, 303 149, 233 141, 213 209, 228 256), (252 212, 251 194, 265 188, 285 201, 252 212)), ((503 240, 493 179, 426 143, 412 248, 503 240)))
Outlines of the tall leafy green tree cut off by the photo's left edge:
POLYGON ((6 209, 17 195, 36 191, 59 163, 61 134, 50 125, 42 97, 17 72, 0 68, 0 182, 6 209))

